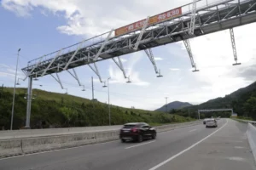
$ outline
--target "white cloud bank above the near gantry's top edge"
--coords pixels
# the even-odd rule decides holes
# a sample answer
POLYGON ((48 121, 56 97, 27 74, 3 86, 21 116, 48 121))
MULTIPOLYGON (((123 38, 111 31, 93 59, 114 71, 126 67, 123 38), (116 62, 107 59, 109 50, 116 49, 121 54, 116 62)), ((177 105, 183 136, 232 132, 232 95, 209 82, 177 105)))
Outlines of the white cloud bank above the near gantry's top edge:
POLYGON ((119 0, 3 0, 2 6, 22 17, 31 15, 36 8, 47 9, 52 14, 65 17, 67 20, 67 24, 56 28, 58 31, 68 35, 91 37, 188 2, 189 0, 175 3, 169 0, 162 0, 161 3, 154 0, 139 2, 137 0, 122 2, 119 0), (108 10, 109 8, 111 10, 108 10))

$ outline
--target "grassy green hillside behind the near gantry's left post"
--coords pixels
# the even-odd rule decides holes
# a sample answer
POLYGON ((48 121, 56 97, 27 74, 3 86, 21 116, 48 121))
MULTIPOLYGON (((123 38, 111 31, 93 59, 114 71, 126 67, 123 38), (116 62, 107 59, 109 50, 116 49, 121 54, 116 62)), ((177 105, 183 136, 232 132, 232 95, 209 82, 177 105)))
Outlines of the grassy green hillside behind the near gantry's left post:
MULTIPOLYGON (((26 88, 16 89, 14 129, 26 122, 26 88)), ((67 94, 33 89, 32 128, 84 127, 108 125, 108 105, 67 94)), ((0 88, 0 127, 9 129, 13 88, 0 88)), ((125 122, 148 122, 151 125, 187 122, 192 119, 158 111, 144 111, 111 106, 112 125, 125 122)))

